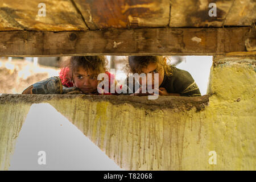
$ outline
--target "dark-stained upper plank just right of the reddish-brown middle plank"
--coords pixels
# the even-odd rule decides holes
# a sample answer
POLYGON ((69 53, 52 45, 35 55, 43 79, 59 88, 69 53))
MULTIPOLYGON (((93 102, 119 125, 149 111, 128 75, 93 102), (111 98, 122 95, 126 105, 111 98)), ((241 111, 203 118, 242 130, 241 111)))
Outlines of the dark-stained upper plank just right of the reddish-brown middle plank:
POLYGON ((170 27, 221 27, 233 1, 170 0, 170 27), (209 16, 209 4, 215 3, 217 16, 209 16))

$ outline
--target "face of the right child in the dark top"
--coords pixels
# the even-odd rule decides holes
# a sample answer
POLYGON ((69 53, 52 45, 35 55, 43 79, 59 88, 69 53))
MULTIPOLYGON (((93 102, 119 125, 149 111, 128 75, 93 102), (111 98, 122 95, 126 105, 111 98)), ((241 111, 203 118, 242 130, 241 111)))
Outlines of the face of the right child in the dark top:
MULTIPOLYGON (((146 74, 146 77, 147 77, 147 73, 152 73, 152 80, 151 80, 151 85, 152 85, 152 88, 154 88, 154 73, 158 73, 159 74, 159 86, 162 84, 163 82, 163 78, 164 78, 164 69, 157 69, 157 66, 155 63, 150 63, 148 64, 148 66, 146 68, 142 68, 141 69, 141 72, 142 73, 145 73, 146 74)), ((147 78, 146 78, 147 80, 147 78)), ((139 80, 140 84, 142 85, 142 79, 139 80)), ((147 83, 148 85, 148 83, 147 83)), ((145 85, 145 86, 147 86, 145 85)))

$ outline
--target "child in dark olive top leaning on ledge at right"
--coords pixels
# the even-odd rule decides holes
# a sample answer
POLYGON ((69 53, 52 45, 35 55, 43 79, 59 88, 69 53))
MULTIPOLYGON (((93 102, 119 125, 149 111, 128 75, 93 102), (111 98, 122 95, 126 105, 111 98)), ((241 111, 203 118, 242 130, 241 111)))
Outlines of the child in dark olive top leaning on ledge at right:
MULTIPOLYGON (((160 96, 201 96, 200 90, 192 76, 182 69, 166 64, 166 57, 163 56, 129 56, 129 66, 131 73, 159 73, 159 95, 160 96)), ((147 80, 147 79, 146 79, 147 80)), ((154 74, 152 74, 154 82, 154 74)), ((146 85, 148 82, 146 81, 146 85)), ((142 81, 139 80, 140 90, 135 92, 135 82, 126 80, 126 93, 133 93, 135 96, 145 96, 141 93, 142 81), (131 85, 133 85, 131 87, 131 85), (133 89, 131 89, 133 88, 133 89)), ((146 86, 144 85, 144 86, 146 86)), ((154 84, 152 85, 154 86, 154 84)))

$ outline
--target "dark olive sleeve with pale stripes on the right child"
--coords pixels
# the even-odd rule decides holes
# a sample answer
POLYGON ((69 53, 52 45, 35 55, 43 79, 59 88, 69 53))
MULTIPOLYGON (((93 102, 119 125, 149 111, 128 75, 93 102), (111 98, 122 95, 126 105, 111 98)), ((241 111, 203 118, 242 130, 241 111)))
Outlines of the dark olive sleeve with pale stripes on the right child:
POLYGON ((180 96, 201 96, 200 90, 190 73, 181 69, 177 71, 174 88, 180 96))

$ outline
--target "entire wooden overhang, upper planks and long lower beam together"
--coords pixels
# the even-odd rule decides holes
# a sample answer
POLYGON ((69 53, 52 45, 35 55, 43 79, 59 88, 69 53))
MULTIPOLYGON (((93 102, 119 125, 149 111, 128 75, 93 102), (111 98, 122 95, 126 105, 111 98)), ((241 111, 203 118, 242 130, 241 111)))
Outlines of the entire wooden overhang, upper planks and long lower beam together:
POLYGON ((40 2, 0 1, 0 56, 255 55, 255 0, 40 2))

